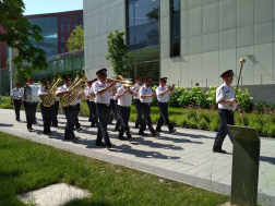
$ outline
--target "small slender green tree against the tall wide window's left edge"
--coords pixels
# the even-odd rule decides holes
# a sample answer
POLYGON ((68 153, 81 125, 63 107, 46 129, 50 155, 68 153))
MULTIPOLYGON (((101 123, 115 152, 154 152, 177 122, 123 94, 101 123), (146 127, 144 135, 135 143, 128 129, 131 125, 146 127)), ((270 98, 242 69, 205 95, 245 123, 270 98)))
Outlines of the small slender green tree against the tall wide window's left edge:
POLYGON ((116 75, 122 74, 127 75, 130 73, 132 68, 128 64, 128 58, 130 57, 130 52, 128 51, 128 46, 124 41, 125 32, 115 31, 115 34, 110 32, 108 34, 108 54, 106 54, 106 59, 110 60, 112 65, 113 73, 116 75))

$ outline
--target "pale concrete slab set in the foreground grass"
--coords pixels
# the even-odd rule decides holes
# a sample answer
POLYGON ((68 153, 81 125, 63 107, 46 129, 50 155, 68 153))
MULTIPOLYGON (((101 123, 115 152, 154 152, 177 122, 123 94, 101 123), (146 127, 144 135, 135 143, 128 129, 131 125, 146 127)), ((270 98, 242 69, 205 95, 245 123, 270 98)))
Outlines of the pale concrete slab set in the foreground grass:
POLYGON ((88 191, 64 183, 52 184, 17 197, 25 204, 39 206, 60 206, 71 201, 89 196, 88 191))

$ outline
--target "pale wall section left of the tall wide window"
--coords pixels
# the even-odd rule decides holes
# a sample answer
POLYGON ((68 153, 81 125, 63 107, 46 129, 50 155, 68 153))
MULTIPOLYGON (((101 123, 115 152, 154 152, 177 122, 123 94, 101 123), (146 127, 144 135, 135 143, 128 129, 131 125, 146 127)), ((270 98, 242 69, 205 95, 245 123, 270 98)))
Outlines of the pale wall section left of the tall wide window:
POLYGON ((92 80, 98 69, 106 68, 110 69, 108 76, 112 76, 110 63, 105 58, 107 35, 110 31, 125 29, 124 0, 83 0, 83 9, 85 74, 92 80))

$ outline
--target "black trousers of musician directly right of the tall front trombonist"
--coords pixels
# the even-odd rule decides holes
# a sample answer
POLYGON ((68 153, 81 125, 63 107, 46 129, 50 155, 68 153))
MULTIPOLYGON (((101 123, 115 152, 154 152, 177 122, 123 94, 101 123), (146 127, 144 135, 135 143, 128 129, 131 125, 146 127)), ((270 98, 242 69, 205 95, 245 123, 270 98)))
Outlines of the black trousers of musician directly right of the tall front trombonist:
POLYGON ((121 129, 119 130, 119 136, 122 137, 123 134, 125 133, 128 140, 132 137, 130 134, 130 129, 128 124, 130 112, 131 112, 130 107, 118 106, 119 119, 122 124, 121 129))

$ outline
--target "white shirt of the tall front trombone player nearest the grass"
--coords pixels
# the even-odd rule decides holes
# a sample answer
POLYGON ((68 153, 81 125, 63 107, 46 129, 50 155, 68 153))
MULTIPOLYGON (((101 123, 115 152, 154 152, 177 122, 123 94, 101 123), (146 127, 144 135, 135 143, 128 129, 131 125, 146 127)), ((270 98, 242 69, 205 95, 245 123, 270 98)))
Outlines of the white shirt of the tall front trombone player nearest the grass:
POLYGON ((100 81, 93 83, 92 87, 95 93, 95 104, 110 104, 110 95, 112 94, 112 87, 110 87, 106 93, 99 95, 98 92, 106 88, 108 84, 104 84, 100 81))

